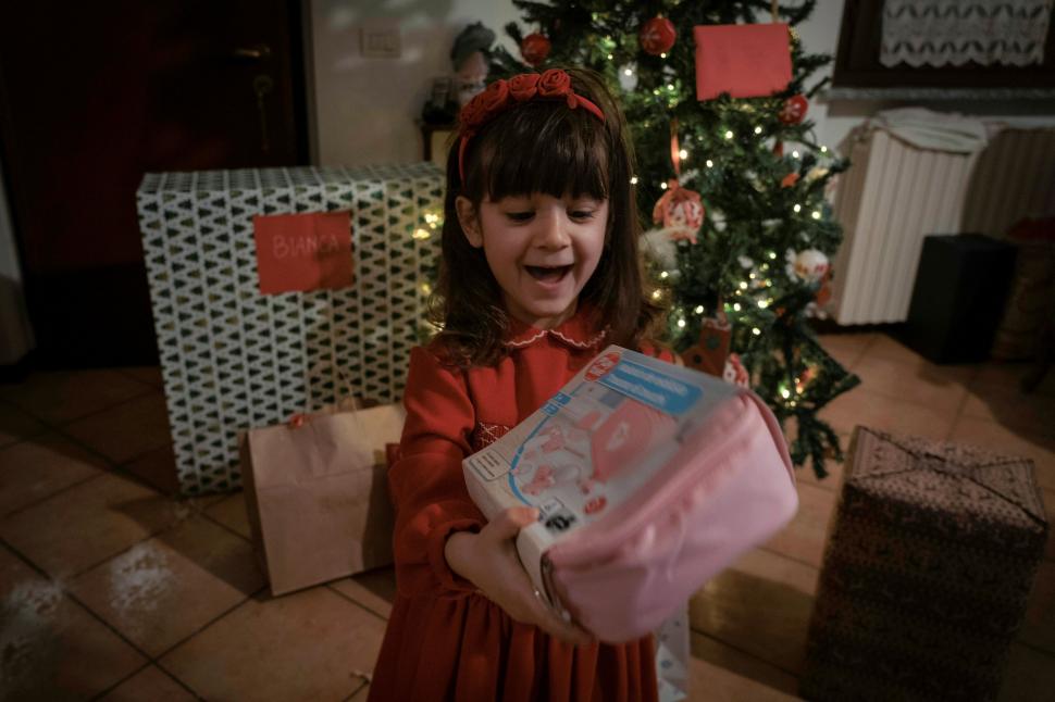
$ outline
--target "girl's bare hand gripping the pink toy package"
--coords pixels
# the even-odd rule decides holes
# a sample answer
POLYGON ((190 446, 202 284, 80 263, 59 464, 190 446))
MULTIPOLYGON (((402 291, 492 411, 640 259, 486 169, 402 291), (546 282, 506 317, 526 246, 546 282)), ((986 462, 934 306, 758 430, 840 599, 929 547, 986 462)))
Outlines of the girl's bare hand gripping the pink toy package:
POLYGON ((520 563, 517 535, 537 518, 537 510, 510 507, 488 522, 480 534, 452 534, 444 548, 447 563, 517 622, 534 624, 561 641, 593 643, 594 637, 585 629, 561 619, 535 594, 531 577, 520 563))

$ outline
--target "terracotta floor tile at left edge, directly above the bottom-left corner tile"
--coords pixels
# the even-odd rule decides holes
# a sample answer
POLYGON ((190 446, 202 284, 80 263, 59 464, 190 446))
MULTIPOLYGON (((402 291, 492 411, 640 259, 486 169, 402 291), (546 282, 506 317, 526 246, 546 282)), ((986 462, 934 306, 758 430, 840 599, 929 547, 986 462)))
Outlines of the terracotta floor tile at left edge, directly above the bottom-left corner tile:
POLYGON ((115 474, 102 474, 0 521, 0 537, 55 578, 76 575, 194 514, 115 474))

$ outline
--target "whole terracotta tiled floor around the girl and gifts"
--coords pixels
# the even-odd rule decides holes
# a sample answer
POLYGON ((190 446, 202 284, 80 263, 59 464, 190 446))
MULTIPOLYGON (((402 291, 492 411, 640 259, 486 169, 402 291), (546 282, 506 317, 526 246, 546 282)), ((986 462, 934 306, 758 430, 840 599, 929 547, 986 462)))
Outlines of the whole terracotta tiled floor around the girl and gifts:
MULTIPOLYGON (((824 416, 975 442, 1037 463, 1055 516, 1055 372, 931 365, 879 334, 824 337, 862 385, 824 416)), ((799 472, 792 524, 692 602, 697 699, 794 699, 841 471, 799 472)), ((174 490, 156 368, 0 385, 0 695, 4 700, 364 700, 390 569, 273 599, 240 493, 174 490)), ((1053 529, 1055 534, 1055 529, 1053 529)), ((1004 700, 1055 690, 1055 537, 1004 700)))

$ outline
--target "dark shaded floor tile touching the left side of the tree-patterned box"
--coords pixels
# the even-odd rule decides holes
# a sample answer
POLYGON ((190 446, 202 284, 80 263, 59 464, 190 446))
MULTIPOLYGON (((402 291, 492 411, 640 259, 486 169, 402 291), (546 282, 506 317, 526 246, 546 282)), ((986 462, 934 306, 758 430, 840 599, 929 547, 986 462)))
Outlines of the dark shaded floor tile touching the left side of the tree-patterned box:
POLYGON ((157 391, 71 422, 62 430, 114 463, 128 462, 172 441, 165 397, 157 391))

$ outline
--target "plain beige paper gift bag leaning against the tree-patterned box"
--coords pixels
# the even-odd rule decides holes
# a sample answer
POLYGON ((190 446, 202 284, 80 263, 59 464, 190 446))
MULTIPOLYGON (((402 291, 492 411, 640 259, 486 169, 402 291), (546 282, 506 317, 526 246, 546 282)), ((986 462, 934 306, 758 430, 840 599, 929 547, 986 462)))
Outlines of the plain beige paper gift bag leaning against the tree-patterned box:
POLYGON ((272 594, 392 563, 385 444, 399 441, 404 418, 385 404, 243 437, 246 507, 272 594))

